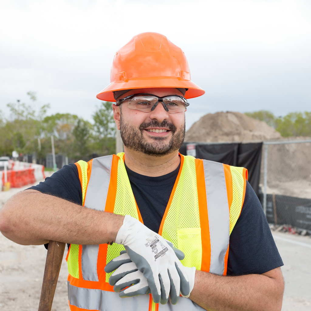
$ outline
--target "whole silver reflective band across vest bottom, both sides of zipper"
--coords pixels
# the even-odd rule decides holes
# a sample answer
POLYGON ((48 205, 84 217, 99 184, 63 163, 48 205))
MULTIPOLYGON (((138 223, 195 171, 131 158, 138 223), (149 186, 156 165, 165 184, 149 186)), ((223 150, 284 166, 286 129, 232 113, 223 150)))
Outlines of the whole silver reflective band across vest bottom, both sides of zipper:
MULTIPOLYGON (((149 309, 149 295, 139 295, 136 297, 120 298, 118 293, 109 292, 105 290, 95 290, 88 288, 81 288, 77 286, 68 285, 69 304, 81 309, 99 310, 99 311, 148 311, 149 309)), ((159 311, 192 311, 204 310, 189 298, 179 297, 177 304, 172 305, 159 304, 159 311)))

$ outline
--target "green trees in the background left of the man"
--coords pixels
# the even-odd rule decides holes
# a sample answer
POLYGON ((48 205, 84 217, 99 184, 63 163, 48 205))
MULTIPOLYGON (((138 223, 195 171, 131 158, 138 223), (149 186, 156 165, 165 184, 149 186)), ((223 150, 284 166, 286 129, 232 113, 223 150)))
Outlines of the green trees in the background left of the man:
MULTIPOLYGON (((36 93, 29 91, 30 100, 36 93)), ((0 155, 11 156, 16 150, 22 154, 35 153, 45 158, 51 153, 51 135, 54 136, 55 153, 72 160, 115 153, 115 126, 111 103, 102 102, 93 115, 94 125, 75 114, 46 116, 49 104, 38 111, 25 103, 9 103, 10 118, 0 110, 0 155), (41 148, 39 150, 38 138, 41 148)))

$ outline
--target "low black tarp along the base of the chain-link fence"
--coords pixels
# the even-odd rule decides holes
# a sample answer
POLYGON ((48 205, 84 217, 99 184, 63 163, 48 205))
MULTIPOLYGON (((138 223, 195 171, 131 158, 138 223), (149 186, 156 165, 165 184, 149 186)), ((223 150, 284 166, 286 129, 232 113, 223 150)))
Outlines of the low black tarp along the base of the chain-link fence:
MULTIPOLYGON (((263 195, 260 196, 263 200, 263 195)), ((267 194, 267 220, 272 224, 291 225, 311 230, 311 199, 267 194), (275 211, 276 210, 276 211, 275 211)))

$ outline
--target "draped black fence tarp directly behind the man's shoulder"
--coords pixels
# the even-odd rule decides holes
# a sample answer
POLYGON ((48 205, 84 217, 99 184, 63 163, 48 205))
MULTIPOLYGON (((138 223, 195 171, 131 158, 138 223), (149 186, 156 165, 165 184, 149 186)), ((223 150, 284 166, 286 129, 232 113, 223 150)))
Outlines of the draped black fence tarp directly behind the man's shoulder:
POLYGON ((195 157, 228 165, 243 166, 248 170, 248 182, 258 196, 262 142, 200 144, 185 142, 179 152, 187 155, 187 145, 195 145, 195 157))

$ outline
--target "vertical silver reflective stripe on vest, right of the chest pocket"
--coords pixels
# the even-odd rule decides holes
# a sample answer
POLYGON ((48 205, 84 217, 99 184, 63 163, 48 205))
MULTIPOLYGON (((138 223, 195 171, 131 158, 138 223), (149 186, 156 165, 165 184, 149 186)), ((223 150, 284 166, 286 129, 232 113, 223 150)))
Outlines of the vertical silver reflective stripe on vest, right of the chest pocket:
POLYGON ((225 172, 218 162, 203 160, 203 166, 211 239, 210 272, 223 274, 230 230, 225 172))

